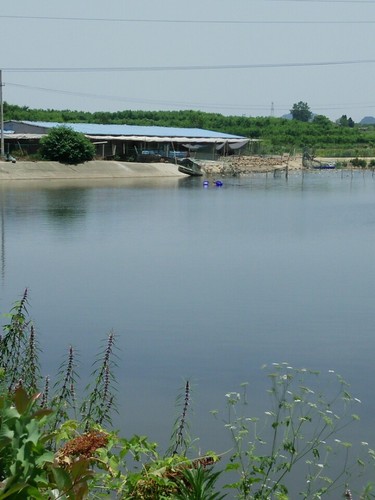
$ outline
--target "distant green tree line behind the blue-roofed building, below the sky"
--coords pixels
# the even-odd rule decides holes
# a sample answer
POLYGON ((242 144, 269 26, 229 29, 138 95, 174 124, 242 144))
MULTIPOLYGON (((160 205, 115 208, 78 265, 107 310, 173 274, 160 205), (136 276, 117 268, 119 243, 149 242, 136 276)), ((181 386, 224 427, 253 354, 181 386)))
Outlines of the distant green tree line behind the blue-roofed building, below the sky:
POLYGON ((84 112, 30 109, 4 103, 4 120, 53 121, 59 123, 101 123, 158 125, 215 130, 262 139, 262 152, 279 153, 313 148, 337 156, 375 156, 375 126, 355 124, 343 115, 332 122, 324 115, 313 115, 300 101, 291 109, 293 119, 276 117, 224 116, 203 111, 84 112))

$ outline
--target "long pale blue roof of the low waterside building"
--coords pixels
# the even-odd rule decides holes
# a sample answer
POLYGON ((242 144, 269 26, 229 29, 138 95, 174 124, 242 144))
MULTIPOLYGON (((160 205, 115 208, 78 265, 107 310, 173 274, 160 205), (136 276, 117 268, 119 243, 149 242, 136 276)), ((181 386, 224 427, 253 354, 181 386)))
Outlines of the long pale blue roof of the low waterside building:
POLYGON ((86 135, 138 135, 150 137, 199 137, 203 139, 245 139, 239 135, 224 134, 201 128, 154 127, 143 125, 100 125, 96 123, 57 123, 22 121, 35 127, 52 128, 65 125, 86 135))

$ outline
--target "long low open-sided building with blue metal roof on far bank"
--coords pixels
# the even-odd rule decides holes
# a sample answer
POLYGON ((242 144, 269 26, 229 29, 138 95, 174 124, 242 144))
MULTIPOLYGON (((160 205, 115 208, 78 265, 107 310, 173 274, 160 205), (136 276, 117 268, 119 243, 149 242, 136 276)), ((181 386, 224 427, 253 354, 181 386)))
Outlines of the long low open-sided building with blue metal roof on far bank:
POLYGON ((57 126, 84 134, 97 146, 99 157, 149 160, 151 156, 173 156, 194 152, 197 157, 215 158, 218 154, 240 151, 250 141, 246 137, 200 128, 139 125, 102 125, 95 123, 56 123, 7 121, 6 138, 16 141, 38 140, 57 126))

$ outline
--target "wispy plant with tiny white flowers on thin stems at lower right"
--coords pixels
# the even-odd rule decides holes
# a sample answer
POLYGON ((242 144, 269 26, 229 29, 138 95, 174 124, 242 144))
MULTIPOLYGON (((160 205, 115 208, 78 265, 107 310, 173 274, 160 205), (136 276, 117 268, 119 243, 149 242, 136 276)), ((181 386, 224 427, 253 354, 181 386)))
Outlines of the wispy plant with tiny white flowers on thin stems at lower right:
MULTIPOLYGON (((333 371, 322 392, 317 372, 294 369, 287 363, 275 363, 272 368, 268 374, 271 407, 265 418, 248 416, 247 384, 242 385, 241 393, 227 394, 225 426, 233 441, 227 470, 240 475, 227 486, 244 499, 287 499, 288 484, 295 485, 301 478, 302 498, 350 491, 347 485, 352 474, 360 474, 365 462, 350 462, 351 444, 339 438, 348 425, 359 420, 353 410, 360 401, 333 371), (340 464, 333 476, 332 464, 336 469, 340 464)), ((369 453, 373 459, 373 451, 369 453)))

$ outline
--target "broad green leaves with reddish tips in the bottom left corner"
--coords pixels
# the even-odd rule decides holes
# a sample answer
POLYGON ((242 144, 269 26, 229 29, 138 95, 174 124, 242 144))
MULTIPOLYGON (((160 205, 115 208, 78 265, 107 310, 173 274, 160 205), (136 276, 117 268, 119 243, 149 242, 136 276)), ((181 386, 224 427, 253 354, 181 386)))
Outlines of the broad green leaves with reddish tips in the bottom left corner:
POLYGON ((52 412, 37 408, 38 399, 22 387, 0 396, 0 500, 83 499, 93 475, 89 462, 56 462, 44 430, 52 412))

